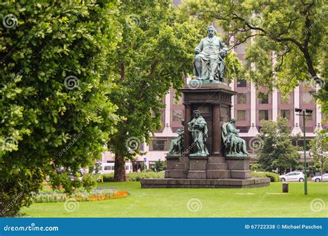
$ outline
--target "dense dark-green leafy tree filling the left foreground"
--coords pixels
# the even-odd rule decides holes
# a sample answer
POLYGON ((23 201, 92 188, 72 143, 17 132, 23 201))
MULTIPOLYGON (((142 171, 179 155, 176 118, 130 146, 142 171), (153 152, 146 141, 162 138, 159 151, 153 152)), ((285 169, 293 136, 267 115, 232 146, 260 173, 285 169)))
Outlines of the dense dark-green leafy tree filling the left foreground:
POLYGON ((0 3, 0 215, 16 215, 51 177, 100 156, 118 121, 107 61, 120 39, 107 1, 0 3))

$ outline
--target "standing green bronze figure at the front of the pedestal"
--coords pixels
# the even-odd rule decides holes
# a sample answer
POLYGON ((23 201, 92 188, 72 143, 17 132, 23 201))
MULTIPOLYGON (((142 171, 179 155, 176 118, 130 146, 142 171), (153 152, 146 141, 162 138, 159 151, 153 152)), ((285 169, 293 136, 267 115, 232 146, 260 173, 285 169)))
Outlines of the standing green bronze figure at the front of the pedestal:
POLYGON ((190 156, 209 155, 206 141, 208 138, 208 126, 203 117, 201 117, 199 110, 194 111, 194 119, 188 123, 188 130, 192 133, 192 146, 195 146, 197 153, 192 153, 190 156))

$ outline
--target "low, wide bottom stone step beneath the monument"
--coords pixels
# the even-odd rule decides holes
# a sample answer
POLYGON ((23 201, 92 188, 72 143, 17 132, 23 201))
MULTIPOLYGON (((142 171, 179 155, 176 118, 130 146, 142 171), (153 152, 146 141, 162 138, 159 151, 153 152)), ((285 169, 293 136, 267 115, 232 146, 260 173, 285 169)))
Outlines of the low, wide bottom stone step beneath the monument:
POLYGON ((270 178, 250 179, 141 179, 141 188, 259 188, 270 185, 270 178))

